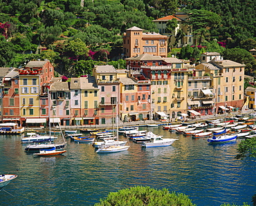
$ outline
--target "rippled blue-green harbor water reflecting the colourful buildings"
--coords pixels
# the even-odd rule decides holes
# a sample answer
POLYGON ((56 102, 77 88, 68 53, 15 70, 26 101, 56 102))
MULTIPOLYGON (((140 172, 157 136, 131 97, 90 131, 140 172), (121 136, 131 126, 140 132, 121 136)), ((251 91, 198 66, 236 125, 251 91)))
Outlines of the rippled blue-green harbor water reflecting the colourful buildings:
MULTIPOLYGON (((68 141, 61 156, 33 157, 21 136, 0 136, 1 174, 18 178, 1 191, 0 205, 94 205, 109 192, 143 185, 182 192, 196 205, 251 204, 256 194, 256 160, 237 160, 240 139, 209 145, 159 127, 141 127, 172 146, 143 149, 129 141, 125 152, 98 154, 91 144, 68 141)), ((120 139, 125 139, 120 135, 120 139)), ((125 205, 125 204, 124 204, 125 205)))

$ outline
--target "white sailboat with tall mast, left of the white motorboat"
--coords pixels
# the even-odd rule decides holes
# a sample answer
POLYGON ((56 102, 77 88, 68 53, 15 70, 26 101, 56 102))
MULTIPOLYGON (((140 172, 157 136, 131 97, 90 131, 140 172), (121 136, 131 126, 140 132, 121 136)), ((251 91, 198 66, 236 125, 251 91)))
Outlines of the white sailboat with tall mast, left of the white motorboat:
POLYGON ((120 141, 118 140, 118 101, 116 102, 116 136, 117 141, 113 141, 113 145, 109 145, 107 143, 102 143, 97 153, 113 153, 113 152, 122 152, 129 149, 130 146, 120 145, 120 141))

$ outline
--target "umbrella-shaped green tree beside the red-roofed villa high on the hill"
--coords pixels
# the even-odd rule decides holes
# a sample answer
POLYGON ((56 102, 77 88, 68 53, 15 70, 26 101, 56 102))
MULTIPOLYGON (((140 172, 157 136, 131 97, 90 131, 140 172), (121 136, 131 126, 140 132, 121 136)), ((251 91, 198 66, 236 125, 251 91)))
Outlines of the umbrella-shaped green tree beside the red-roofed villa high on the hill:
POLYGON ((193 33, 195 36, 195 45, 201 45, 203 35, 210 28, 215 28, 221 23, 221 17, 214 12, 207 10, 192 10, 189 15, 188 25, 192 25, 193 33), (199 43, 197 43, 199 39, 199 43))

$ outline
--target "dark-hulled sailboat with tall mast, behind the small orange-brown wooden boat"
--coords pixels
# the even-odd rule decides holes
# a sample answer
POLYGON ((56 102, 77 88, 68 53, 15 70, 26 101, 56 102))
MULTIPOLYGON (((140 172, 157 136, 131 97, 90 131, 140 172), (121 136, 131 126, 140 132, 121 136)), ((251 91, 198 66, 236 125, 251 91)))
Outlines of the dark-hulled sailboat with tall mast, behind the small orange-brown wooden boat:
MULTIPOLYGON (((49 92, 50 87, 48 87, 48 116, 49 116, 49 135, 51 138, 51 118, 50 118, 50 111, 51 111, 51 107, 50 107, 50 92, 49 92)), ((28 145, 25 148, 26 152, 40 152, 40 150, 52 150, 53 148, 55 150, 63 150, 63 148, 66 146, 66 141, 64 139, 64 135, 62 132, 62 129, 60 127, 60 132, 62 134, 62 139, 64 141, 64 143, 60 143, 60 144, 55 144, 55 143, 42 143, 42 144, 35 144, 35 145, 28 145)))

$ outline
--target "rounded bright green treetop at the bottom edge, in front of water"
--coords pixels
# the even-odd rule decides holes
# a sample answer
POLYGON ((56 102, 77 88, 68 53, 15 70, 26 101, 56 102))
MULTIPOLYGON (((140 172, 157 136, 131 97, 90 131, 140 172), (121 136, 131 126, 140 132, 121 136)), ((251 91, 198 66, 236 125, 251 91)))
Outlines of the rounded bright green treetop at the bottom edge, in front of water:
POLYGON ((100 199, 100 205, 194 205, 190 198, 182 193, 172 192, 168 189, 153 189, 151 187, 136 186, 111 192, 107 198, 100 199))

